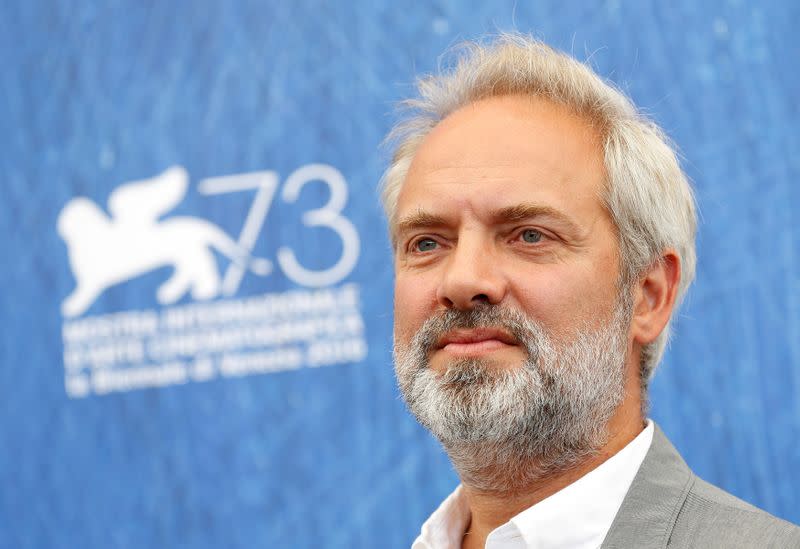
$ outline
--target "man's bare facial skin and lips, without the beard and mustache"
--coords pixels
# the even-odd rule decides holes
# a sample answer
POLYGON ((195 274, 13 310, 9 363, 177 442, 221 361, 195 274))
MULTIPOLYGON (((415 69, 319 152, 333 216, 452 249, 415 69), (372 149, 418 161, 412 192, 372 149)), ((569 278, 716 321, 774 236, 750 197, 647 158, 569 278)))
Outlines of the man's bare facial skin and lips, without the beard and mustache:
MULTIPOLYGON (((603 180, 597 132, 550 102, 490 98, 443 120, 414 157, 392 227, 396 343, 479 303, 522 312, 556 340, 599 327, 619 275, 603 180)), ((525 351, 503 330, 455 331, 430 368, 476 357, 516 368, 525 351)))

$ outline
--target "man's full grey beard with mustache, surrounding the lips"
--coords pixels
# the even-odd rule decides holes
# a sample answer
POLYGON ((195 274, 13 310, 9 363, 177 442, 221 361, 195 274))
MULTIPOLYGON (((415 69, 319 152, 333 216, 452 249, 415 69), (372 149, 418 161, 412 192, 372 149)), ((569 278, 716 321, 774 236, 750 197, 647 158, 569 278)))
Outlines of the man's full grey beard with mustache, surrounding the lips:
POLYGON ((630 306, 620 302, 599 329, 556 342, 517 310, 486 305, 429 318, 397 343, 395 372, 417 420, 444 446, 462 482, 513 493, 595 455, 624 395, 630 306), (524 346, 521 366, 454 361, 437 374, 429 356, 456 328, 501 327, 524 346))

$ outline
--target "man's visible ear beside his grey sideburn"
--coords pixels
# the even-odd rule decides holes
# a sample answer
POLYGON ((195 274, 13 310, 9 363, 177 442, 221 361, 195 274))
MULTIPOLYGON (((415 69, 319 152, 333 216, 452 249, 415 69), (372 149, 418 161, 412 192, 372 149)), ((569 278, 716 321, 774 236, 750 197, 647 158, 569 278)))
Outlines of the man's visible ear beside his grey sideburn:
POLYGON ((634 289, 631 337, 644 346, 664 330, 675 307, 681 280, 681 260, 675 250, 665 250, 640 277, 634 289))

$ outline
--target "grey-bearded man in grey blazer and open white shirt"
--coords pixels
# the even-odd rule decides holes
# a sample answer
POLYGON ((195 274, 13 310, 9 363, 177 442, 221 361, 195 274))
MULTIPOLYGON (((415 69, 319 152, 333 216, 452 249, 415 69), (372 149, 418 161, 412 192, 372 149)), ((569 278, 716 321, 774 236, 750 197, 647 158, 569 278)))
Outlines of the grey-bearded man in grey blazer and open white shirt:
POLYGON ((383 182, 395 368, 462 484, 414 548, 800 547, 645 420, 695 266, 660 130, 517 35, 419 91, 383 182))

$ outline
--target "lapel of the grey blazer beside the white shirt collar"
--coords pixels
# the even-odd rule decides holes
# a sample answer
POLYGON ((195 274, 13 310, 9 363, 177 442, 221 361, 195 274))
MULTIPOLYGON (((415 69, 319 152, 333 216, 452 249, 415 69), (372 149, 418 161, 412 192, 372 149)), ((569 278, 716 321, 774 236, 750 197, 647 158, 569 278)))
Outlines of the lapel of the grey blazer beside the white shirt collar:
POLYGON ((667 546, 694 475, 655 425, 653 443, 603 541, 603 548, 667 546))

